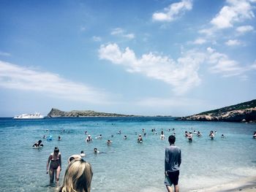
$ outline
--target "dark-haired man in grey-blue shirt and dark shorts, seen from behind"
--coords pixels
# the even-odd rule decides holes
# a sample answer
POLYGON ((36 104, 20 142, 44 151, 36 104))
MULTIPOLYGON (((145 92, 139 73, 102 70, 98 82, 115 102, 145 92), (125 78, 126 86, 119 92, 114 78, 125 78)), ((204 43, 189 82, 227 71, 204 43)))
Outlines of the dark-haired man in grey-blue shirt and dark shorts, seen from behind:
POLYGON ((179 192, 178 175, 181 165, 181 149, 174 145, 176 137, 170 135, 168 138, 169 147, 165 148, 165 185, 168 192, 172 192, 171 185, 174 185, 175 192, 179 192))

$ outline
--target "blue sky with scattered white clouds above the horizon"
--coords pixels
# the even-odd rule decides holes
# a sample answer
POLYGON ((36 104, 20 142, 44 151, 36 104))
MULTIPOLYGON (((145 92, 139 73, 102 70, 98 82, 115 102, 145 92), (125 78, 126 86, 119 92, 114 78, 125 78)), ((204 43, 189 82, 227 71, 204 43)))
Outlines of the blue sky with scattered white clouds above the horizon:
POLYGON ((1 0, 0 117, 256 99, 255 14, 256 0, 1 0))

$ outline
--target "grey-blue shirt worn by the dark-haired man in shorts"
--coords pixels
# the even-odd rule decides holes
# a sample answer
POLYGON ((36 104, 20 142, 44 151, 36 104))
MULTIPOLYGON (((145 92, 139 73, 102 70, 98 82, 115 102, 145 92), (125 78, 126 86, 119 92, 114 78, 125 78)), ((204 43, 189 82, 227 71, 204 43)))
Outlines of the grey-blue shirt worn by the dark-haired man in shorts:
POLYGON ((165 172, 176 172, 181 165, 181 149, 175 145, 165 148, 165 172))

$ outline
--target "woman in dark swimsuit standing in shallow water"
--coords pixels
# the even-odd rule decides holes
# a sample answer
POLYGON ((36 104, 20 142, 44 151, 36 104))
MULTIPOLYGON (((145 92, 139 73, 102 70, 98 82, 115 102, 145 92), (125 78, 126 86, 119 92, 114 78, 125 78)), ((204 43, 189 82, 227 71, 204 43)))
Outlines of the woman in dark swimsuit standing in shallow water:
POLYGON ((50 184, 53 183, 54 174, 55 174, 55 180, 56 184, 59 184, 59 174, 61 173, 61 153, 59 153, 59 148, 55 147, 54 152, 50 153, 50 156, 47 161, 46 165, 46 174, 49 173, 50 175, 50 184), (50 169, 49 168, 50 164, 50 169))

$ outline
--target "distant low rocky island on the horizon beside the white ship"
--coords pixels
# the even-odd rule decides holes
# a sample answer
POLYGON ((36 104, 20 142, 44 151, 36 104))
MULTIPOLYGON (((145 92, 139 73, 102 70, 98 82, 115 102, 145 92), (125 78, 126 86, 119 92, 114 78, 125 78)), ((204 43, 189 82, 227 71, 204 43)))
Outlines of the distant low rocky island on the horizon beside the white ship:
POLYGON ((121 115, 108 112, 95 112, 91 110, 72 110, 71 112, 64 112, 52 108, 48 113, 48 118, 83 118, 83 117, 135 117, 135 115, 121 115))

